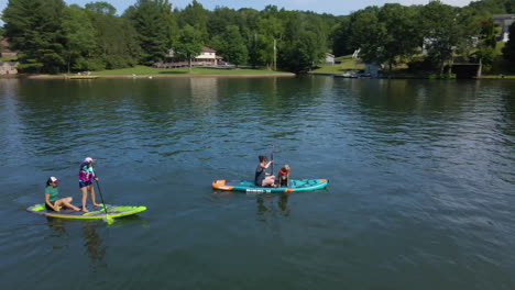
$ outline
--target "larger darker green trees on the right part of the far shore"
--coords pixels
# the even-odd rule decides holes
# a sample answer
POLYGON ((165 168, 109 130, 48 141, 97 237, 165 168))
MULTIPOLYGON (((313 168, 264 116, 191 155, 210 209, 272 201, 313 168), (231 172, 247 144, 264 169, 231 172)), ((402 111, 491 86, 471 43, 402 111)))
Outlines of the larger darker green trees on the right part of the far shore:
POLYGON ((474 1, 463 8, 437 0, 425 5, 368 7, 340 22, 332 33, 332 48, 347 55, 359 47, 362 59, 388 68, 408 64, 442 74, 446 64, 460 56, 489 69, 500 34, 494 13, 515 13, 515 0, 474 1), (423 51, 424 62, 413 62, 423 51))

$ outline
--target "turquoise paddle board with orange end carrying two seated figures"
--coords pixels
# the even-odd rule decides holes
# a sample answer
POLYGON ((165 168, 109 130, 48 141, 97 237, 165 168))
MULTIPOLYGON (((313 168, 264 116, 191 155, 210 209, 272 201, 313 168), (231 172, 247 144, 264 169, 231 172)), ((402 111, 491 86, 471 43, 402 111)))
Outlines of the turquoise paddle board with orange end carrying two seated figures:
POLYGON ((288 187, 258 187, 251 180, 216 180, 212 182, 213 189, 228 191, 246 192, 296 192, 322 189, 327 187, 327 179, 289 179, 288 187))

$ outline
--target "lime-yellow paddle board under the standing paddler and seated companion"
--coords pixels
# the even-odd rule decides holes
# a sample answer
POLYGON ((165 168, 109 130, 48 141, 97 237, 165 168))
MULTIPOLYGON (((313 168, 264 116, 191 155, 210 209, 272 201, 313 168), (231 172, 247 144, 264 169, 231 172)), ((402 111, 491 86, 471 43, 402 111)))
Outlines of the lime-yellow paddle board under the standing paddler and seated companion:
MULTIPOLYGON (((112 219, 136 214, 146 210, 146 207, 124 207, 124 205, 110 205, 110 204, 106 204, 106 207, 107 207, 108 216, 112 219)), ((73 219, 73 220, 100 220, 106 216, 103 204, 100 204, 100 207, 96 207, 94 210, 90 210, 89 212, 81 212, 81 211, 76 212, 70 209, 62 209, 58 212, 48 211, 46 210, 44 203, 29 207, 26 210, 29 212, 33 212, 33 213, 45 215, 45 216, 73 219)))

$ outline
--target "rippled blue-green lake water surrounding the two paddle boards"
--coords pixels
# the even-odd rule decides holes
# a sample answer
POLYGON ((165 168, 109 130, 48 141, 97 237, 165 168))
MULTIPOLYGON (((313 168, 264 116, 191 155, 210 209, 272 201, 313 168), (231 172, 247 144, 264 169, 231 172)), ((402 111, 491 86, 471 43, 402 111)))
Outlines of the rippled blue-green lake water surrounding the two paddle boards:
POLYGON ((0 131, 3 289, 515 289, 515 81, 0 79, 0 131), (328 188, 211 189, 272 145, 328 188), (25 211, 86 156, 147 211, 25 211))

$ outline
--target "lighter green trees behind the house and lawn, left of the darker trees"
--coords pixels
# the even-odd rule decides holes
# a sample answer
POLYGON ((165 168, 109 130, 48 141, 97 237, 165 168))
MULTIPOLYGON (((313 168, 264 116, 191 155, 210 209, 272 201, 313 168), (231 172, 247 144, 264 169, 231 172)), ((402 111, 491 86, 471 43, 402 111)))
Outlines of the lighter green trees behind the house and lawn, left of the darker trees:
POLYGON ((138 0, 121 15, 103 1, 81 8, 63 0, 10 0, 2 19, 4 36, 20 52, 20 69, 39 72, 152 65, 171 49, 188 60, 202 46, 234 65, 299 72, 328 52, 339 21, 273 5, 208 11, 195 0, 183 10, 168 0, 138 0))

